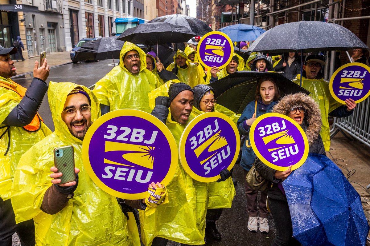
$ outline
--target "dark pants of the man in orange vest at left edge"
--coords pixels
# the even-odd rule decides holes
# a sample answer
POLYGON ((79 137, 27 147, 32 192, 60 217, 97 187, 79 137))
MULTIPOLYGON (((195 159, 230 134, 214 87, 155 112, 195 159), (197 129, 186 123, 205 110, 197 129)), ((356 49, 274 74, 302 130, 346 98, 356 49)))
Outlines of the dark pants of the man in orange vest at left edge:
POLYGON ((0 245, 11 246, 11 236, 17 233, 22 246, 34 246, 36 242, 33 220, 16 224, 15 218, 10 199, 3 201, 0 198, 0 245))

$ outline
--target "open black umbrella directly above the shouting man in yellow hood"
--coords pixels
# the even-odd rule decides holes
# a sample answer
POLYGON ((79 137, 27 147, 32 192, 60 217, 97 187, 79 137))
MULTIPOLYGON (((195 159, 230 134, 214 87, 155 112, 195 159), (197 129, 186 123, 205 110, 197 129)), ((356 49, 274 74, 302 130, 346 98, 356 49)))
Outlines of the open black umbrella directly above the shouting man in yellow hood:
POLYGON ((168 44, 186 42, 195 34, 181 25, 168 22, 153 22, 128 28, 117 38, 122 41, 139 44, 168 44))

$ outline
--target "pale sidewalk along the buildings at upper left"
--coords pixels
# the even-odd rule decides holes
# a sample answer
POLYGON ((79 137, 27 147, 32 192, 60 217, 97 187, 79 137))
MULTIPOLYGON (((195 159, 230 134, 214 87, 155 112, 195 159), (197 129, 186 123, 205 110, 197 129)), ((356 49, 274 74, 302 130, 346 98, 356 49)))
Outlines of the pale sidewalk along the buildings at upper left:
MULTIPOLYGON (((70 58, 70 52, 68 51, 47 54, 46 59, 47 64, 51 67, 72 62, 70 58)), ((40 62, 40 56, 26 59, 24 62, 22 62, 21 60, 19 62, 16 62, 16 60, 14 60, 14 66, 16 66, 17 68, 17 76, 23 75, 24 73, 33 72, 36 60, 40 62)))

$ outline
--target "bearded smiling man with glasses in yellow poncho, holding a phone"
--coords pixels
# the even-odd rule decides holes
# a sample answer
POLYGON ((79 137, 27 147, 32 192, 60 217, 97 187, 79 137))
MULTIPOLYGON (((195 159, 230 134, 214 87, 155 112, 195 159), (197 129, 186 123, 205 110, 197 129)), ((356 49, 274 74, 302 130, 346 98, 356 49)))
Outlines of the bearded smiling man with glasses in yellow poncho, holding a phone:
POLYGON ((55 132, 20 159, 11 193, 16 222, 33 218, 40 246, 134 246, 138 238, 128 231, 116 198, 97 187, 83 166, 83 139, 99 116, 96 97, 84 86, 50 82, 48 98, 55 132), (55 170, 53 150, 67 145, 74 148, 78 176, 59 185, 63 173, 55 170))

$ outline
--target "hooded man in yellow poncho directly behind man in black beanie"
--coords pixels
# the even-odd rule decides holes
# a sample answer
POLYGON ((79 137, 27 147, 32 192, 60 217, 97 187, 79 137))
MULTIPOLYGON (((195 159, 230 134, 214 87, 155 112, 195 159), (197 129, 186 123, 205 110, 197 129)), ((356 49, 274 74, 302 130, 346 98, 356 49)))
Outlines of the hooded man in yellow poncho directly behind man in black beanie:
POLYGON ((166 70, 172 71, 179 80, 191 87, 204 84, 204 79, 199 75, 199 70, 194 63, 188 62, 188 56, 184 51, 178 49, 172 62, 166 70))

